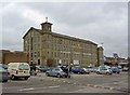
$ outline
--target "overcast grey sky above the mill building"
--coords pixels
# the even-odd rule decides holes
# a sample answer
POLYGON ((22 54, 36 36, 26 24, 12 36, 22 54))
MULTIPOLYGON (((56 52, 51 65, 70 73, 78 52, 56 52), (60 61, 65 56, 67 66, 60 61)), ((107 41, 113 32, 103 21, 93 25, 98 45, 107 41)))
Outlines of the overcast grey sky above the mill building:
POLYGON ((23 36, 48 17, 53 32, 103 43, 106 56, 128 56, 127 2, 4 2, 0 9, 0 49, 23 51, 23 36))

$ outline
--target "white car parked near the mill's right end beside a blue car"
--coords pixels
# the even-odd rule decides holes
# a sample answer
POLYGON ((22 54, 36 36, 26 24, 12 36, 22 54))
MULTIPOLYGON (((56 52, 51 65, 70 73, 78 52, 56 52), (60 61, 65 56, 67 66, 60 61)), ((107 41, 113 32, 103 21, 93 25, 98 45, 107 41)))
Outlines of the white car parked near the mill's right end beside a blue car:
POLYGON ((96 70, 98 74, 112 74, 112 70, 110 68, 106 68, 106 67, 99 67, 96 70))

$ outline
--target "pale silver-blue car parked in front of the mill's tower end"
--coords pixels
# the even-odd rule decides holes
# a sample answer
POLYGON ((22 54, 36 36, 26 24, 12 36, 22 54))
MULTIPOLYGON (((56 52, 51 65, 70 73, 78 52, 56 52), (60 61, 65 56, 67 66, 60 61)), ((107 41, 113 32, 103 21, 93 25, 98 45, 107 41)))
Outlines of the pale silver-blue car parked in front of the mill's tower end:
POLYGON ((70 74, 68 74, 67 72, 63 71, 62 68, 53 68, 50 70, 46 71, 46 76, 48 77, 57 77, 57 78, 70 78, 70 74))

